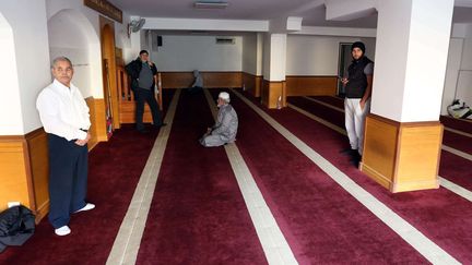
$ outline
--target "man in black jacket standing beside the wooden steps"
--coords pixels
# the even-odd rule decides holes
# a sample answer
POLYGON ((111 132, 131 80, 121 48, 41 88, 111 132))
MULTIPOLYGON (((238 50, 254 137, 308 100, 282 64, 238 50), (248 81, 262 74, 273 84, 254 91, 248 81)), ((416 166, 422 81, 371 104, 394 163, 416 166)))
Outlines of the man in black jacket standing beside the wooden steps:
POLYGON ((158 129, 165 125, 162 122, 161 110, 154 97, 154 76, 157 74, 157 68, 149 60, 148 51, 141 50, 140 56, 126 65, 126 70, 131 76, 131 89, 134 93, 137 130, 142 133, 148 132, 143 124, 144 101, 151 108, 153 127, 158 129))

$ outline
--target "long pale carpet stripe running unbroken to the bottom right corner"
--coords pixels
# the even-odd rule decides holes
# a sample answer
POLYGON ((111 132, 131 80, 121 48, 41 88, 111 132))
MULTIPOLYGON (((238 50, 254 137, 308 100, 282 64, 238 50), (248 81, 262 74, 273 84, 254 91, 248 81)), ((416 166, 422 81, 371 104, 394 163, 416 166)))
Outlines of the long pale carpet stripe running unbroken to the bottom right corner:
POLYGON ((287 129, 282 127, 272 117, 252 104, 249 99, 245 98, 241 94, 233 89, 243 101, 245 101, 251 109, 253 109, 262 119, 271 124, 280 134, 287 138, 295 147, 297 147, 305 156, 314 161, 321 168, 331 179, 341 185, 346 192, 354 196, 359 203, 368 208, 374 215, 389 226, 397 232, 403 240, 410 243, 417 252, 433 264, 460 264, 445 250, 439 248, 436 243, 429 240, 415 227, 410 225, 406 220, 397 215, 387 205, 378 201, 375 196, 355 183, 345 173, 334 167, 330 161, 324 159, 320 154, 310 148, 307 144, 296 137, 287 129))

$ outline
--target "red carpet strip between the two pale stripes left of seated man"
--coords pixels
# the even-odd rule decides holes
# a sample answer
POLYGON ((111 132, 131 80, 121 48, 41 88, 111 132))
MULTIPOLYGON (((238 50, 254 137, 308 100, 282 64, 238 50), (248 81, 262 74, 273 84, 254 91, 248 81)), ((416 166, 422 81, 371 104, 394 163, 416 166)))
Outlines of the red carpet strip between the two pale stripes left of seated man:
POLYGON ((138 264, 267 264, 224 148, 197 142, 211 124, 203 94, 182 93, 138 264))

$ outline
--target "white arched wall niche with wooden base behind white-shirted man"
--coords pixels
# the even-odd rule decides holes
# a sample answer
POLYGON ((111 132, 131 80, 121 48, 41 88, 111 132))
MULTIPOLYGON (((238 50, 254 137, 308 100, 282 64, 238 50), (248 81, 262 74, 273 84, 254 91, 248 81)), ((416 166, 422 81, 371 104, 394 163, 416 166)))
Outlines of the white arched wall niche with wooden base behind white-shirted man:
POLYGON ((107 141, 102 80, 101 41, 92 23, 78 10, 63 9, 48 20, 49 53, 66 56, 74 67, 72 83, 79 87, 91 111, 88 144, 107 141))

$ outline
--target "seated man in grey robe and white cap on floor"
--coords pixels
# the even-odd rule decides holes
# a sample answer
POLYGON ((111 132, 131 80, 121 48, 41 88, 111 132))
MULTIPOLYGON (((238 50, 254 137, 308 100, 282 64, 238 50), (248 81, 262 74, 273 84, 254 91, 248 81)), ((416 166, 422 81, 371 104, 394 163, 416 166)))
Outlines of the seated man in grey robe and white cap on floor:
POLYGON ((200 138, 200 143, 205 147, 221 146, 236 140, 238 119, 233 106, 229 105, 228 93, 220 93, 217 107, 220 110, 216 123, 200 138))

